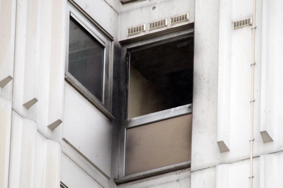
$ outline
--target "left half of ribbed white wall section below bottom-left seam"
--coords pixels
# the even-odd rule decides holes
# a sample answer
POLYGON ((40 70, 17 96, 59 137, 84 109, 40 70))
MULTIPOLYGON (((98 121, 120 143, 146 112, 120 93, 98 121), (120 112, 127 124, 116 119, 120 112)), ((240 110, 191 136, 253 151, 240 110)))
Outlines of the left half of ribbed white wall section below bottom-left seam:
POLYGON ((35 172, 36 123, 12 112, 9 187, 32 187, 35 172))

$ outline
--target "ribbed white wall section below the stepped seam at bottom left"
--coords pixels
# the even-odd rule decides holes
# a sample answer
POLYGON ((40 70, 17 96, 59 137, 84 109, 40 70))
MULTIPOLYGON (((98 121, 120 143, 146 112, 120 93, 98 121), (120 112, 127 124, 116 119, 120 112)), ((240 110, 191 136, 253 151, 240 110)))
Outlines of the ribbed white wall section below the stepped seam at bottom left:
POLYGON ((37 131, 34 121, 12 113, 9 187, 59 187, 60 145, 37 131))

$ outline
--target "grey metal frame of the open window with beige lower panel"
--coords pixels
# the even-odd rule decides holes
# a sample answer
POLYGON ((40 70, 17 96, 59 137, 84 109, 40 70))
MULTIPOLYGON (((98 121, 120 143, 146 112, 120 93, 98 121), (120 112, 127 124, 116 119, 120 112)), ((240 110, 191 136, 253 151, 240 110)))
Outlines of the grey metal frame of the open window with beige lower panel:
MULTIPOLYGON (((128 70, 128 72, 124 72, 123 80, 126 80, 127 76, 129 76, 129 58, 130 58, 130 52, 136 51, 143 48, 149 48, 152 46, 156 46, 159 44, 172 42, 175 40, 179 40, 182 38, 187 38, 190 36, 194 36, 194 28, 188 27, 185 30, 181 29, 180 31, 173 31, 171 33, 165 33, 164 35, 160 35, 158 37, 153 38, 145 38, 144 40, 141 40, 140 38, 137 39, 137 41, 133 40, 131 43, 125 43, 122 47, 122 54, 126 54, 124 57, 124 67, 125 70, 128 70)), ((129 79, 127 78, 129 81, 129 79)), ((119 162, 119 176, 118 180, 115 181, 116 184, 122 184, 130 181, 135 181, 147 177, 152 177, 159 174, 164 174, 176 170, 181 170, 185 168, 190 168, 190 161, 181 162, 177 164, 172 164, 166 167, 161 167, 157 169, 148 170, 146 172, 139 172, 137 174, 131 174, 128 176, 125 176, 125 157, 126 157, 126 131, 129 128, 137 127, 146 125, 149 123, 161 121, 170 119, 173 117, 178 117, 186 114, 192 113, 192 104, 183 105, 176 108, 171 108, 147 115, 142 115, 139 117, 134 117, 131 119, 127 119, 127 111, 128 111, 128 85, 127 81, 122 82, 122 88, 124 88, 124 91, 122 91, 124 95, 123 99, 123 105, 122 107, 122 120, 121 120, 121 133, 120 133, 120 162, 119 162)))

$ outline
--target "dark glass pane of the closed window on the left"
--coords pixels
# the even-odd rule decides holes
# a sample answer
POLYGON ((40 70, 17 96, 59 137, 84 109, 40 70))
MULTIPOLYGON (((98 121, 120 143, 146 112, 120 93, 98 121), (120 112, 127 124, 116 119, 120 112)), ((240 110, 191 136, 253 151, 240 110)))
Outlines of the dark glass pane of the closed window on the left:
POLYGON ((69 32, 68 72, 103 102, 104 46, 71 16, 69 32))

